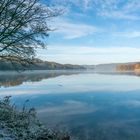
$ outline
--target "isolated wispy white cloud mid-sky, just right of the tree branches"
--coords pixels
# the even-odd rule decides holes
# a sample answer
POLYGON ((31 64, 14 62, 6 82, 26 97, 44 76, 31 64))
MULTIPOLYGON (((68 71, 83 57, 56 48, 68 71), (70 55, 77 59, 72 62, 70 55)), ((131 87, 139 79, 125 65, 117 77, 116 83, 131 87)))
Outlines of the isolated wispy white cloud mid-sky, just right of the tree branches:
POLYGON ((72 23, 65 20, 56 21, 54 27, 56 28, 56 31, 54 33, 63 35, 65 39, 80 38, 101 31, 100 29, 92 25, 72 23))

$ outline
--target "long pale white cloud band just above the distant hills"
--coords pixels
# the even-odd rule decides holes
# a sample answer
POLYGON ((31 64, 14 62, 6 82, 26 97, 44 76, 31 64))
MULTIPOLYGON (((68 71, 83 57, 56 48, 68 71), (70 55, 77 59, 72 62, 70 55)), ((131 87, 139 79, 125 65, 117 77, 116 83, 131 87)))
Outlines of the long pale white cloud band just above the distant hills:
POLYGON ((48 61, 71 64, 100 64, 140 61, 140 48, 130 47, 89 47, 89 46, 48 46, 39 57, 48 61))

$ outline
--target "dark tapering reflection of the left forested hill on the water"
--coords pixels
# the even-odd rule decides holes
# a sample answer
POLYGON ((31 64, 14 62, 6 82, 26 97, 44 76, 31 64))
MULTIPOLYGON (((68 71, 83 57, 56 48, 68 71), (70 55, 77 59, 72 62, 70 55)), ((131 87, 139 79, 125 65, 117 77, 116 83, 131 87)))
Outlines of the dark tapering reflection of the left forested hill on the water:
POLYGON ((24 82, 39 82, 43 79, 55 78, 61 75, 78 74, 81 71, 26 71, 0 72, 0 87, 18 86, 24 82))

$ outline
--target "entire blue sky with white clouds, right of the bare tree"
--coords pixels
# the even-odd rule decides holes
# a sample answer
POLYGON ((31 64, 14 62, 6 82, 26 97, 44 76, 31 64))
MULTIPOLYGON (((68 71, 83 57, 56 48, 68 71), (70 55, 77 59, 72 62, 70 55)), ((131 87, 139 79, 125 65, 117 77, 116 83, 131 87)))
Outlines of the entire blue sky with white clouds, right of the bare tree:
POLYGON ((46 0, 64 14, 39 56, 48 61, 100 64, 140 61, 140 0, 46 0))

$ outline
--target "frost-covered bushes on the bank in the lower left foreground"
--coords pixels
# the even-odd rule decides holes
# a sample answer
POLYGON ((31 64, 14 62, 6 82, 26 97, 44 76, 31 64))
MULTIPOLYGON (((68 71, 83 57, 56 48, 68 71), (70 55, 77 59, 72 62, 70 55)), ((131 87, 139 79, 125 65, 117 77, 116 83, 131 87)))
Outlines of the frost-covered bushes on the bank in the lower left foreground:
POLYGON ((44 127, 34 108, 26 109, 24 105, 18 110, 7 96, 0 100, 0 140, 70 140, 70 137, 44 127))

